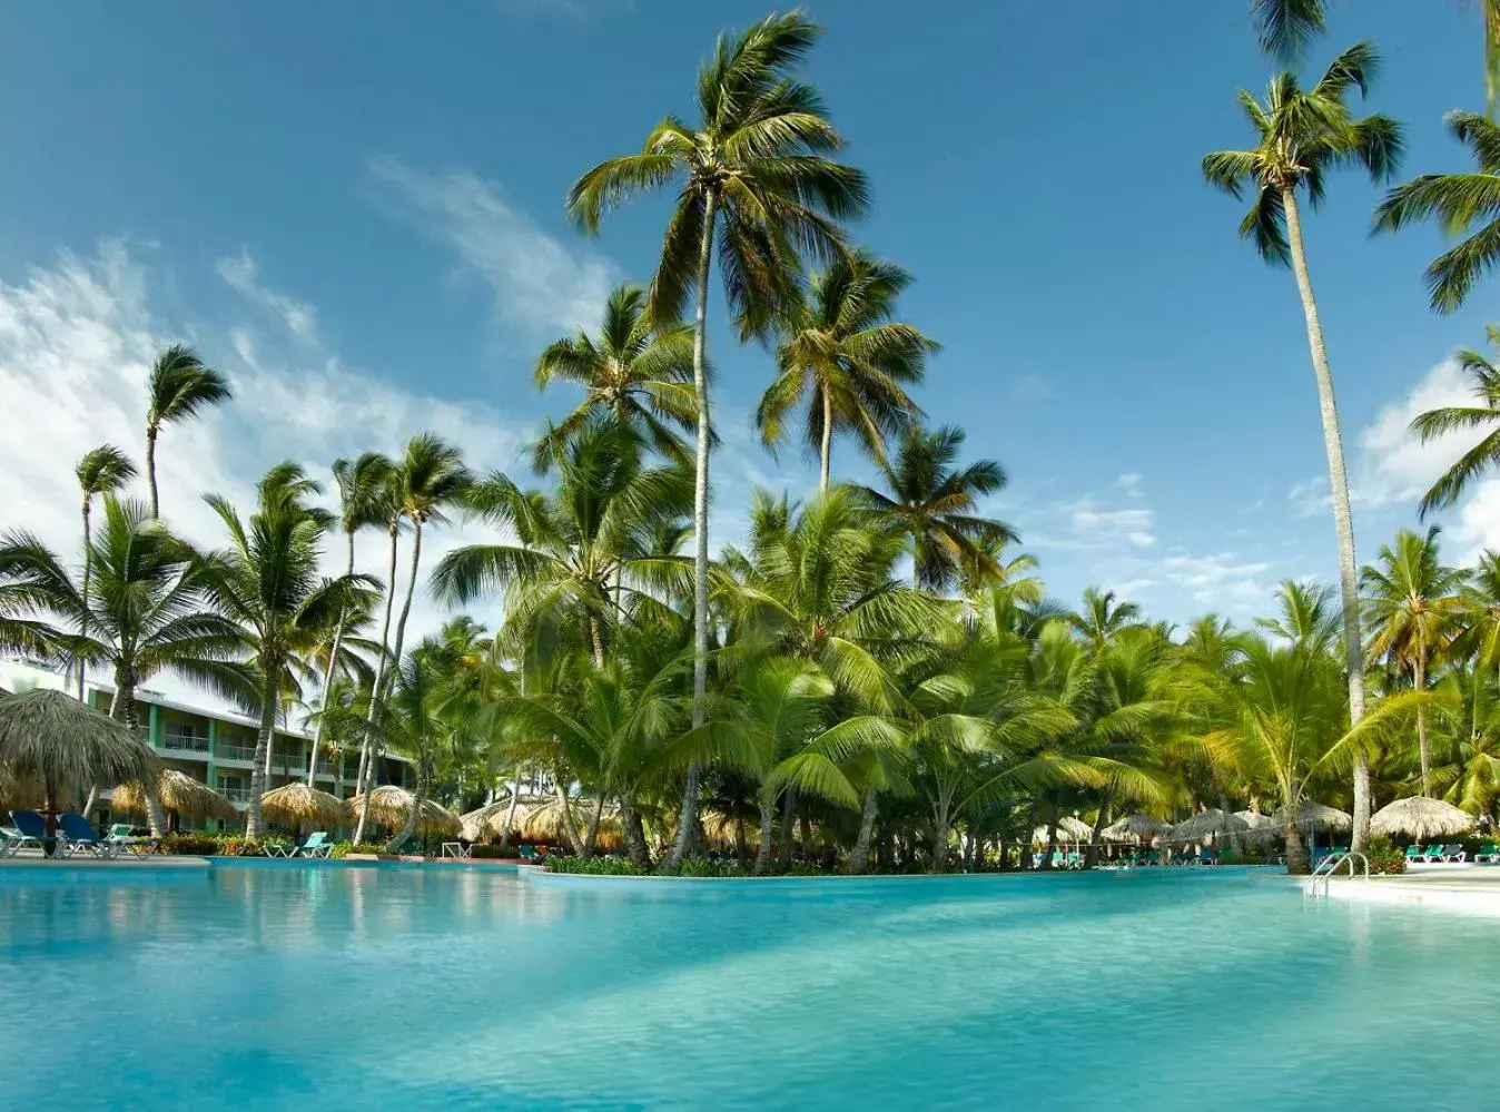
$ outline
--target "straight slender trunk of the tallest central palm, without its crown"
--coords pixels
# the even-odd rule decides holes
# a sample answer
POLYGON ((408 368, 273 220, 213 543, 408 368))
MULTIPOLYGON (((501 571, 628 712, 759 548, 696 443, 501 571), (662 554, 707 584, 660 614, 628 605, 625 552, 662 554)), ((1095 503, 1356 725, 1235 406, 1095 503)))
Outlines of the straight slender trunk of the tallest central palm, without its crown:
MULTIPOLYGON (((698 398, 698 467, 693 479, 693 729, 704 725, 708 695, 708 369, 704 347, 708 329, 708 269, 714 258, 714 216, 718 194, 704 200, 704 242, 698 248, 698 311, 693 318, 693 393, 698 398)), ((668 867, 682 863, 698 830, 698 761, 687 767, 682 815, 668 867)))

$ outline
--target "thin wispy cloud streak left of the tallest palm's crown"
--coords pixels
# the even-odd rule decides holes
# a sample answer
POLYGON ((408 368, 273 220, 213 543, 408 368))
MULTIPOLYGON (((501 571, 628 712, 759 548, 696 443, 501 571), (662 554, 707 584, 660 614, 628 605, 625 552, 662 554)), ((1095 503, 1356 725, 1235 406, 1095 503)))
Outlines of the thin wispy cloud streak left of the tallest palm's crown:
POLYGON ((370 173, 490 287, 504 323, 549 330, 597 321, 618 281, 614 263, 542 231, 494 182, 465 170, 429 174, 393 158, 372 161, 370 173))

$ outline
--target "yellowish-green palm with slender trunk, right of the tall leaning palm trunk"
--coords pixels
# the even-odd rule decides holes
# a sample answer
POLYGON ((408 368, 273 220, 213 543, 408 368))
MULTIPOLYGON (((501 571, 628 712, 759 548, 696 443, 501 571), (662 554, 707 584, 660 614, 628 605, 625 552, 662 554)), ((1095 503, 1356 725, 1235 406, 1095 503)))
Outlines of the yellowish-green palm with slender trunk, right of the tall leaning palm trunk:
MULTIPOLYGON (((1438 558, 1437 525, 1426 536, 1396 533, 1395 546, 1380 549, 1378 566, 1365 567, 1365 626, 1370 632, 1368 662, 1388 659, 1412 672, 1412 689, 1426 690, 1434 659, 1452 641, 1461 606, 1464 576, 1438 558)), ((1422 761, 1422 794, 1432 794, 1432 756, 1426 738, 1426 707, 1416 708, 1418 752, 1422 761)))

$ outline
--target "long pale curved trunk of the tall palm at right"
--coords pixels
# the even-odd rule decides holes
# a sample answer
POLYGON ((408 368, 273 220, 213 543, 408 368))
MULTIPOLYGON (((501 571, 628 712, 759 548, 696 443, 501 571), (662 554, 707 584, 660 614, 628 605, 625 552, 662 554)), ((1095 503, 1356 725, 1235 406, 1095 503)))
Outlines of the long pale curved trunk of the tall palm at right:
MULTIPOLYGON (((1348 675, 1348 720, 1354 726, 1365 717, 1365 654, 1359 641, 1359 569, 1354 561, 1354 519, 1348 509, 1348 474, 1344 471, 1344 440, 1338 429, 1338 407, 1334 402, 1334 371, 1328 365, 1323 326, 1312 299, 1306 251, 1302 245, 1302 219, 1298 213, 1296 191, 1284 188, 1281 204, 1287 213, 1287 239, 1292 246, 1292 272, 1302 294, 1302 315, 1306 318, 1308 348, 1312 353, 1312 374, 1317 378, 1318 413, 1323 419, 1323 449, 1328 453, 1328 488, 1334 503, 1334 533, 1338 537, 1338 590, 1344 603, 1344 668, 1348 675)), ((1354 750, 1354 831, 1352 849, 1362 849, 1370 837, 1370 753, 1364 746, 1354 750)))

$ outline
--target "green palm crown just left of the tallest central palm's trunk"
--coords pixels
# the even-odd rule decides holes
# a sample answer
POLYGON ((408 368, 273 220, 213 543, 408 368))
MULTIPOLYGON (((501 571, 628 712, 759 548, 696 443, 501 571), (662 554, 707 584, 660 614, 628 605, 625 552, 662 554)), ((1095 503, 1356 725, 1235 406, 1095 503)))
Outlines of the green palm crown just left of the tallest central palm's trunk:
POLYGON ((537 441, 532 465, 542 474, 561 446, 597 413, 640 431, 674 462, 690 456, 676 431, 698 423, 693 396, 693 333, 686 324, 652 327, 645 290, 616 285, 604 303, 598 336, 582 329, 555 341, 537 360, 537 389, 555 381, 584 387, 584 401, 537 441))

